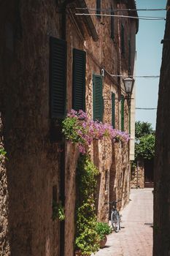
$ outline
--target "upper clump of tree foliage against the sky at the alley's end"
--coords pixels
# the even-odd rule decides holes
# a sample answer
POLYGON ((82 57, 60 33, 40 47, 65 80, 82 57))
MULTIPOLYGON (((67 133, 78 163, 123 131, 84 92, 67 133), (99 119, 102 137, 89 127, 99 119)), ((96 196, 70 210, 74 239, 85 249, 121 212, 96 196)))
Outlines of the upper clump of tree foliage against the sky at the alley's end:
POLYGON ((152 124, 147 122, 136 121, 135 123, 135 138, 141 138, 145 135, 154 134, 155 131, 152 129, 152 124))

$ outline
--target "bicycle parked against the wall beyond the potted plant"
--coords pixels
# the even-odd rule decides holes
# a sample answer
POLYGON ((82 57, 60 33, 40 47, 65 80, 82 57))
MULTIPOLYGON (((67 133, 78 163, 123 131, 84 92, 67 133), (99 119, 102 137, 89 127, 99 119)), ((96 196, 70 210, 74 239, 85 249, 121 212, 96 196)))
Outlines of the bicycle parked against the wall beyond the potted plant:
POLYGON ((112 204, 112 212, 111 212, 112 227, 116 233, 118 233, 120 230, 120 214, 119 214, 119 211, 117 211, 117 203, 120 201, 121 200, 109 202, 109 204, 112 204))

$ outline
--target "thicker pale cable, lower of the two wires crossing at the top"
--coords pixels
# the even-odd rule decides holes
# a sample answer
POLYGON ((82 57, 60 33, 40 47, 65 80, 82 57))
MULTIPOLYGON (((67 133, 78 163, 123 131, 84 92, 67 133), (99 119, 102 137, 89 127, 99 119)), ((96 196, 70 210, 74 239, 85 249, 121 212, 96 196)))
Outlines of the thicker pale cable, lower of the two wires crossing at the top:
POLYGON ((166 20, 164 17, 147 17, 147 16, 126 16, 126 15, 111 15, 111 14, 97 14, 97 13, 75 13, 78 16, 105 16, 105 17, 117 17, 117 18, 133 18, 137 20, 166 20))

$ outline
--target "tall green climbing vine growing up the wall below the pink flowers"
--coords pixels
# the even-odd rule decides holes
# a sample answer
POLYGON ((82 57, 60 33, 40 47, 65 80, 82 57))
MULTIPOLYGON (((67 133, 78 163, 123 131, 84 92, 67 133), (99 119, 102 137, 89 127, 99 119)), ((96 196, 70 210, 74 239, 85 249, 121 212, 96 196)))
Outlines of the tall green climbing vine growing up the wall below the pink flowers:
POLYGON ((94 191, 98 169, 90 157, 81 156, 77 165, 77 209, 75 248, 82 255, 91 255, 99 249, 99 236, 96 232, 94 191))

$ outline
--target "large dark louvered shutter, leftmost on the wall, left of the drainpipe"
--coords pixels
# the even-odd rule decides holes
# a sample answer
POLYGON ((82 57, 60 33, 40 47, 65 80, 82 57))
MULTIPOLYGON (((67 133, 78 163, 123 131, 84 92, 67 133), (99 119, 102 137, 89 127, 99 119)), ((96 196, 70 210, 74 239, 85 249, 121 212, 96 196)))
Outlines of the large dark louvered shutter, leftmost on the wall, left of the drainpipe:
POLYGON ((50 116, 66 113, 66 42, 50 37, 50 116))

